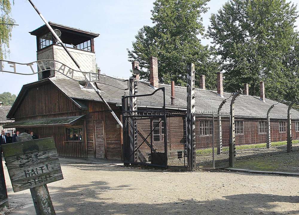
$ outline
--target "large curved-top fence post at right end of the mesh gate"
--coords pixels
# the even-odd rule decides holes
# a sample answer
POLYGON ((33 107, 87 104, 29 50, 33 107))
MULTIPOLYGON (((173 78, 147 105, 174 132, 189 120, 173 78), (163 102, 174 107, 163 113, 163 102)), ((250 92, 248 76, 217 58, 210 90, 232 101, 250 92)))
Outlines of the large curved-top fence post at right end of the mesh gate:
POLYGON ((231 123, 229 128, 229 166, 235 166, 235 156, 236 156, 236 140, 235 140, 235 100, 242 93, 238 91, 234 93, 233 98, 231 99, 231 123))

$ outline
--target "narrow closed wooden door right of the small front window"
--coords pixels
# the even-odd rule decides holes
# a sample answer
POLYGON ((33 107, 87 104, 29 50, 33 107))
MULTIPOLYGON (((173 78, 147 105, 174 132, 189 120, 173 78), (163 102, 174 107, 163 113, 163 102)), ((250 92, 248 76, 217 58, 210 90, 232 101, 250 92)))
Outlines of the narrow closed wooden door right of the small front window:
POLYGON ((94 135, 95 135, 95 157, 106 158, 106 141, 104 133, 104 121, 94 121, 94 135))

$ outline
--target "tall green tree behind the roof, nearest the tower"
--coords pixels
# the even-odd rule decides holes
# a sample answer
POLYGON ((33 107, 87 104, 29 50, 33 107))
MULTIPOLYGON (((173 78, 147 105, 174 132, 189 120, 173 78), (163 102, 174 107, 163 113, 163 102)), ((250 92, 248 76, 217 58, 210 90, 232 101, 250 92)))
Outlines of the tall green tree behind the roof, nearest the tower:
POLYGON ((207 88, 215 88, 218 64, 212 50, 203 46, 201 14, 207 11, 209 0, 156 0, 152 10, 153 27, 142 27, 135 36, 129 61, 139 61, 141 79, 149 80, 149 57, 158 58, 159 81, 186 85, 186 63, 195 64, 196 76, 207 76, 207 88))

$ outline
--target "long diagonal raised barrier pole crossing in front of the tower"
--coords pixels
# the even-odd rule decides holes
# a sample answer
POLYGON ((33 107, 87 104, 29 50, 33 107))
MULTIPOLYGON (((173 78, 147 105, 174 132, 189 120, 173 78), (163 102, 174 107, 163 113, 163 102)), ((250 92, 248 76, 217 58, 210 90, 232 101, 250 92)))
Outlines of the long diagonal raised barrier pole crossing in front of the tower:
MULTIPOLYGON (((80 65, 77 63, 77 61, 74 59, 74 57, 71 55, 71 53, 68 51, 68 49, 65 47, 65 45, 63 44, 63 42, 61 41, 61 39, 59 38, 59 36, 57 36, 57 34, 55 33, 55 31, 53 30, 53 28, 50 26, 50 24, 48 23, 48 21, 42 16, 42 14, 39 12, 39 10, 36 8, 36 6, 33 4, 33 2, 31 0, 28 0, 30 2, 30 4, 33 6, 33 8, 36 10, 36 12, 39 14, 39 16, 42 18, 42 20, 45 22, 46 26, 48 27, 48 29, 51 31, 51 33, 53 34, 53 36, 55 37, 55 39, 57 39, 57 41, 60 43, 60 45, 64 48, 64 50, 66 51, 66 53, 68 54, 68 56, 70 56, 70 58, 72 59, 72 61, 76 64, 76 66, 79 68, 79 70, 82 72, 82 70, 80 69, 80 65)), ((106 102, 105 99, 103 99, 102 95, 100 94, 99 90, 97 89, 96 85, 94 82, 91 82, 89 80, 89 82, 91 83, 92 88, 96 91, 96 93, 98 94, 98 96, 100 97, 100 99, 104 102, 104 104, 107 106, 107 108, 110 110, 112 116, 115 118, 115 120, 118 122, 118 124, 121 126, 121 128, 123 128, 123 124, 120 122, 120 120, 118 119, 118 117, 116 116, 116 114, 114 113, 114 111, 112 110, 112 108, 110 108, 109 104, 106 102)))

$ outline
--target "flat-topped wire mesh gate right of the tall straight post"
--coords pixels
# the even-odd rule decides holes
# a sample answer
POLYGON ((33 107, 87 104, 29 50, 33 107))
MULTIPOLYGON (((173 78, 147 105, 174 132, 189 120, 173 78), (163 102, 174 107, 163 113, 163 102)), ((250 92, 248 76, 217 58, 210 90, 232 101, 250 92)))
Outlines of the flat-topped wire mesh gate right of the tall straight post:
MULTIPOLYGON (((194 169, 229 167, 230 115, 195 113, 194 169)), ((193 153, 194 154, 194 153, 193 153)))

